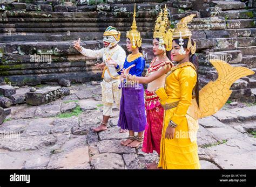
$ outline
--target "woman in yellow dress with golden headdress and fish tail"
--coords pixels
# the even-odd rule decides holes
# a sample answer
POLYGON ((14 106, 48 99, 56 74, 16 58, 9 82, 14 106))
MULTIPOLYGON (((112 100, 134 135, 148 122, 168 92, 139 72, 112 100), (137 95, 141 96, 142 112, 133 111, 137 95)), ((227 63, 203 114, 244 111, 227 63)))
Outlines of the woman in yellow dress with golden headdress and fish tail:
MULTIPOLYGON (((233 82, 254 74, 245 67, 232 67, 221 60, 210 60, 218 71, 218 79, 198 91, 196 42, 191 39, 192 33, 187 27, 194 16, 181 19, 177 28, 170 29, 173 60, 178 64, 167 74, 165 87, 156 90, 165 109, 158 164, 163 169, 200 169, 196 136, 198 119, 223 107, 232 93, 230 87, 233 82)), ((122 76, 129 72, 129 68, 123 71, 122 76)), ((141 79, 134 78, 139 82, 141 79)))

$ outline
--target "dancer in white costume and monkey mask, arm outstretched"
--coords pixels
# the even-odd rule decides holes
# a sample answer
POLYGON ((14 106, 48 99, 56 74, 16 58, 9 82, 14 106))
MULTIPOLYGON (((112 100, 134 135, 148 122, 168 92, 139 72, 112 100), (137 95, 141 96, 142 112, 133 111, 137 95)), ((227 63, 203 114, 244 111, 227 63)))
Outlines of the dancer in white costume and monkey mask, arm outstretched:
MULTIPOLYGON (((107 121, 112 115, 112 105, 115 102, 117 107, 120 106, 121 90, 118 89, 120 83, 119 75, 117 74, 116 68, 112 65, 105 63, 106 60, 114 60, 118 63, 119 67, 123 68, 125 61, 125 51, 118 45, 120 41, 120 32, 116 28, 109 26, 103 34, 104 48, 99 50, 85 49, 80 46, 80 38, 78 41, 74 41, 74 47, 82 53, 84 56, 102 58, 102 63, 96 63, 95 66, 103 68, 102 78, 102 102, 103 102, 103 120, 102 123, 97 127, 93 128, 93 131, 100 132, 107 129, 107 121)), ((125 132, 120 130, 120 132, 125 132)))

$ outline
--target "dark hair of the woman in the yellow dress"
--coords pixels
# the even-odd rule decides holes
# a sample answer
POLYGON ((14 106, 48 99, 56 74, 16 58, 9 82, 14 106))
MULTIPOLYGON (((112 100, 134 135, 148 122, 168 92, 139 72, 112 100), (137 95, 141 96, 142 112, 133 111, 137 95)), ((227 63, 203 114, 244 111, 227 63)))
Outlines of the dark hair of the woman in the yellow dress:
MULTIPOLYGON (((176 44, 179 45, 179 39, 173 39, 173 40, 176 42, 176 44)), ((183 40, 184 40, 183 41, 184 42, 183 47, 187 48, 188 38, 183 39, 183 40)), ((191 39, 191 44, 194 45, 194 40, 193 39, 191 39)), ((194 92, 196 93, 197 105, 199 107, 199 85, 198 85, 198 67, 199 67, 199 64, 198 64, 198 57, 197 57, 196 53, 192 55, 191 52, 190 52, 190 62, 192 62, 194 64, 194 66, 196 66, 196 68, 197 68, 197 83, 194 87, 194 92)))

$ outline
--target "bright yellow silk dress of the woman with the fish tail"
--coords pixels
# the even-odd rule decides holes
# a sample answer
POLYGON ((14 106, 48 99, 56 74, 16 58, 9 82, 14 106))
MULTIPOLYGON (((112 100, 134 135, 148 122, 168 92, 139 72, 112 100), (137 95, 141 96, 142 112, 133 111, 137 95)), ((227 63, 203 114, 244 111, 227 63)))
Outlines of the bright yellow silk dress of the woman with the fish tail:
MULTIPOLYGON (((179 101, 177 107, 165 110, 164 126, 161 136, 160 160, 158 167, 163 169, 200 169, 197 139, 191 142, 188 134, 186 113, 191 104, 193 88, 197 82, 196 68, 191 62, 173 67, 166 76, 165 88, 156 93, 161 104, 179 101), (178 126, 173 139, 165 139, 170 120, 178 126)), ((196 121, 198 122, 198 121, 196 121)))

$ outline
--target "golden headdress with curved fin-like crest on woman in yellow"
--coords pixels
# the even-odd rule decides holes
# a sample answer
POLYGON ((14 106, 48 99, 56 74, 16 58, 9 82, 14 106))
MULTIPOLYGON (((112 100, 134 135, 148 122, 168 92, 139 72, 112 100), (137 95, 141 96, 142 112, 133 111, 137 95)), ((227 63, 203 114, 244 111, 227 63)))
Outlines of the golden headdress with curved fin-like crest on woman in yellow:
POLYGON ((179 45, 181 45, 179 54, 185 54, 185 51, 182 45, 184 44, 183 39, 186 39, 186 38, 188 38, 187 48, 191 49, 191 54, 196 53, 196 48, 197 48, 196 42, 194 42, 194 45, 192 45, 192 42, 191 42, 192 33, 187 27, 187 23, 189 23, 194 16, 196 15, 190 15, 185 18, 182 18, 180 22, 177 24, 177 27, 174 28, 172 38, 179 39, 179 45))

